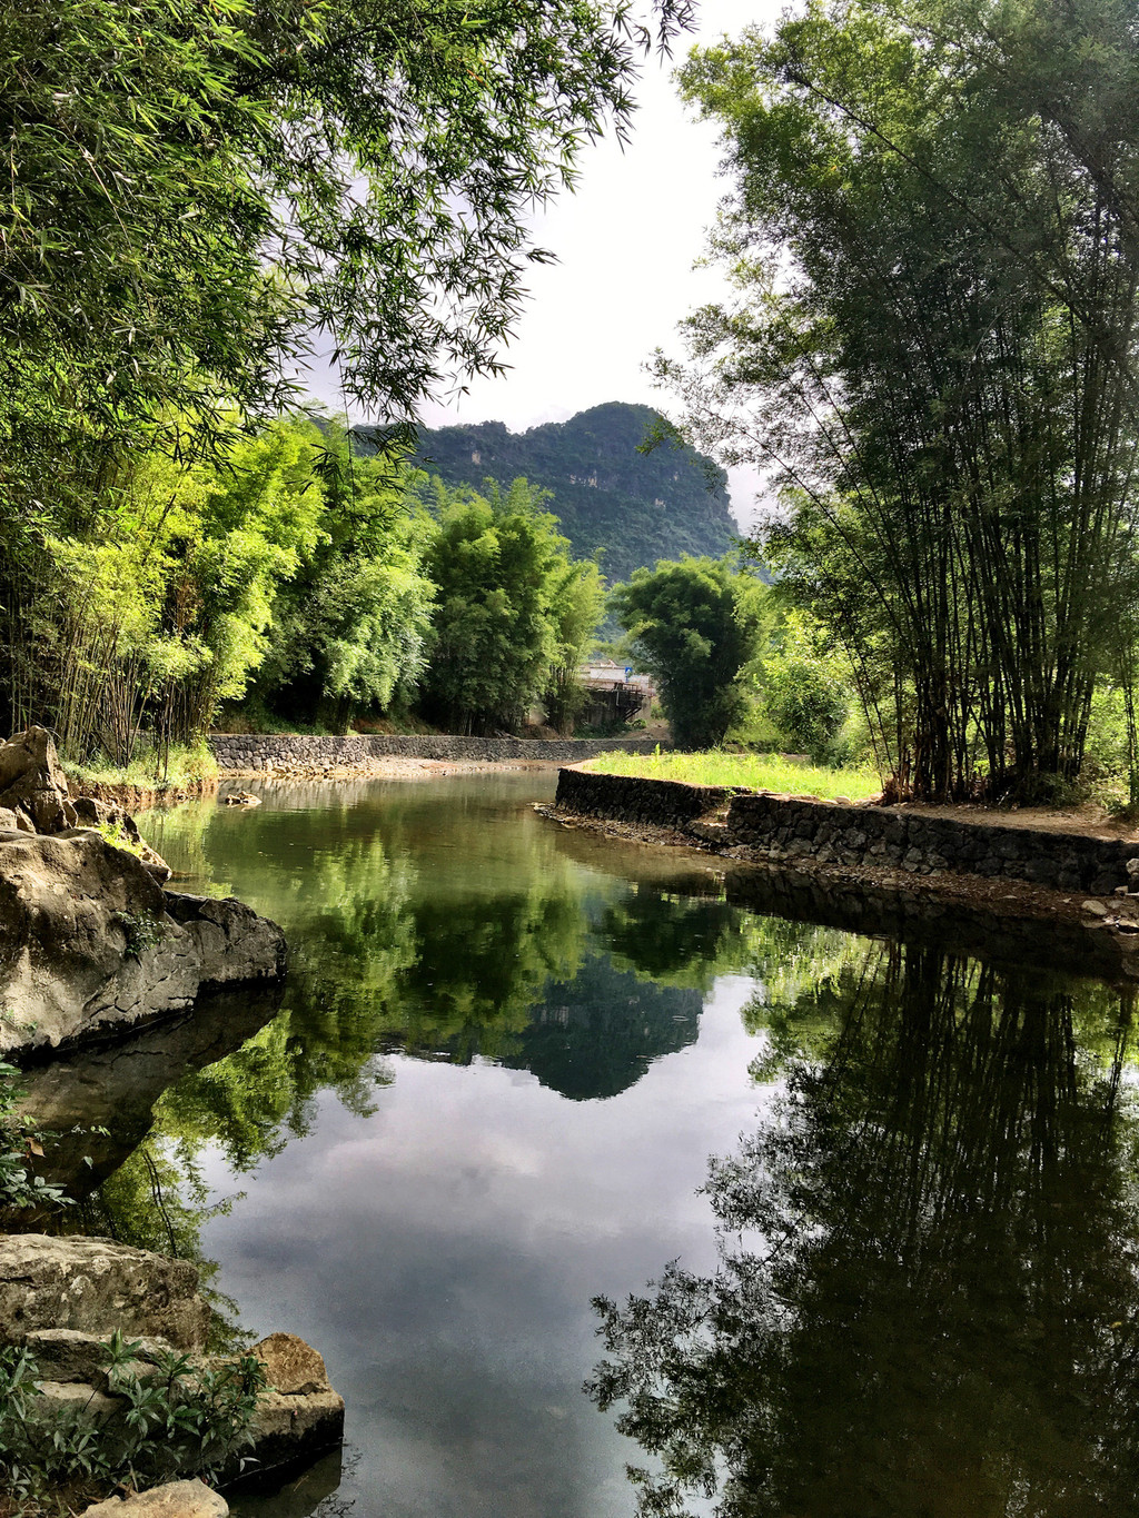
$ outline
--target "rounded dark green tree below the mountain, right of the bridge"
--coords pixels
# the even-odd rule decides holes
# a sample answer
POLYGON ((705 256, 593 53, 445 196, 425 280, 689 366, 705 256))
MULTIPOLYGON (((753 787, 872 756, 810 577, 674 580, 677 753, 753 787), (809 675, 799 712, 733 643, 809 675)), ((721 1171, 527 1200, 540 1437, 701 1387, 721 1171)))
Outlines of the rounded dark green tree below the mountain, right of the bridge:
POLYGON ((723 742, 744 710, 740 671, 755 653, 762 583, 726 560, 661 560, 618 586, 614 610, 633 663, 652 674, 682 748, 723 742))

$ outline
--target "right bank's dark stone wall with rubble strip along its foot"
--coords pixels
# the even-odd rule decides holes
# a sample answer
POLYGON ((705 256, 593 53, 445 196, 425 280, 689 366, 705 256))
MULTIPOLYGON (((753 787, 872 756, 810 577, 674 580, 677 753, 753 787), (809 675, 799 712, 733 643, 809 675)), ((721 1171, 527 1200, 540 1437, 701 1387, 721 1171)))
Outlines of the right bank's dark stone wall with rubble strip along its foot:
POLYGON ((577 768, 559 771, 554 805, 539 812, 570 827, 718 855, 738 885, 749 873, 793 874, 799 896, 811 880, 844 897, 872 891, 894 903, 894 915, 925 918, 929 903, 973 920, 1065 924, 1065 943, 1086 946, 1100 970, 1139 978, 1139 838, 983 818, 975 808, 926 815, 577 768), (1106 940, 1093 953, 1092 934, 1106 940))

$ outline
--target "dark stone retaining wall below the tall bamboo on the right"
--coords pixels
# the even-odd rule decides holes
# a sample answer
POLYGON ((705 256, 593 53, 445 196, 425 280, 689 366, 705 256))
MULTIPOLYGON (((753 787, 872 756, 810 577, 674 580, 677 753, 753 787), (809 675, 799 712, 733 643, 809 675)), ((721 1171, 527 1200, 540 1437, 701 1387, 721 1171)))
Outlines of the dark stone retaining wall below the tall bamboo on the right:
POLYGON ((554 805, 585 817, 674 827, 694 841, 743 847, 749 858, 779 864, 816 859, 911 874, 996 876, 1090 896, 1131 883, 1127 861, 1139 856, 1139 841, 580 770, 560 773, 554 805))

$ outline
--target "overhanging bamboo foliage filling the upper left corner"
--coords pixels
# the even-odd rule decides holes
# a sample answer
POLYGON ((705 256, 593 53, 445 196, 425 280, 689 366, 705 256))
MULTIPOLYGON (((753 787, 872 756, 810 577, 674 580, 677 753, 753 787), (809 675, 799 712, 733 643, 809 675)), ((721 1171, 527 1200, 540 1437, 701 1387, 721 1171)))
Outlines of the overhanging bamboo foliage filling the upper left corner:
POLYGON ((56 715, 46 539, 129 518, 132 455, 223 454, 317 340, 393 420, 500 367, 647 41, 623 0, 0 0, 3 720, 56 715))

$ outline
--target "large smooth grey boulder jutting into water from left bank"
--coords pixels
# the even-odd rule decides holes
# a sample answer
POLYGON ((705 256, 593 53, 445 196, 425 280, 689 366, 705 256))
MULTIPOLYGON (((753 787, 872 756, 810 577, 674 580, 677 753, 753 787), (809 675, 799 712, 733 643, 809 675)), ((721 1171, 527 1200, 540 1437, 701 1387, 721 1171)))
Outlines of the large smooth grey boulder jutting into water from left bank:
POLYGON ((100 833, 0 832, 0 1052, 176 1013, 284 973, 281 929, 240 902, 169 896, 100 833))

